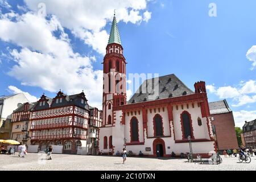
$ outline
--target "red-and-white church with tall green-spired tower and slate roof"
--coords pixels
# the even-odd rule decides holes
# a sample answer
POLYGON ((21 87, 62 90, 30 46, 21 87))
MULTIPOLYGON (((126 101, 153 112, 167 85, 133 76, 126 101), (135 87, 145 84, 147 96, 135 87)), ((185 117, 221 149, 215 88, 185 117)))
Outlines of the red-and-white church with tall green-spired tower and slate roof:
POLYGON ((125 147, 139 155, 168 157, 217 151, 205 82, 189 89, 174 74, 145 80, 126 101, 126 59, 114 15, 104 57, 103 123, 99 150, 115 155, 125 147), (145 91, 146 92, 143 92, 145 91), (149 91, 148 91, 149 90, 149 91))

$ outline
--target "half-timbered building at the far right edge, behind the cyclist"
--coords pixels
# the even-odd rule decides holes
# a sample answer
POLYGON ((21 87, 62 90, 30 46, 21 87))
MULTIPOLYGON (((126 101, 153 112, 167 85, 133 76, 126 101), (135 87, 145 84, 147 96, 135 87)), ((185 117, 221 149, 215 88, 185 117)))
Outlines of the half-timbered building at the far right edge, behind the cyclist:
POLYGON ((256 148, 256 119, 250 122, 245 121, 241 138, 246 148, 256 148))

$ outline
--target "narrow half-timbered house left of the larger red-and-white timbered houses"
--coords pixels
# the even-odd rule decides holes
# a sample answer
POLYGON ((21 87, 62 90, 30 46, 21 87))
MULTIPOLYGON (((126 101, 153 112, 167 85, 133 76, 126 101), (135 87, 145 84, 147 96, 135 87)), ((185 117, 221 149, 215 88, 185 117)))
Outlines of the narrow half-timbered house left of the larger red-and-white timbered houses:
POLYGON ((36 102, 26 102, 13 112, 11 122, 13 129, 11 130, 11 139, 16 140, 22 144, 31 144, 31 109, 34 108, 36 102))

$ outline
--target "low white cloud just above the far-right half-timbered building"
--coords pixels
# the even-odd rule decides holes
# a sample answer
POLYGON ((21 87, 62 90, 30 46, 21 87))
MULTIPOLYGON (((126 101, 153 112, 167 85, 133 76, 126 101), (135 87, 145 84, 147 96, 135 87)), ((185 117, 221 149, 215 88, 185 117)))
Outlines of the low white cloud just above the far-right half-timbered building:
POLYGON ((241 127, 245 124, 245 121, 253 121, 256 119, 256 110, 253 111, 235 111, 233 112, 234 121, 236 122, 236 126, 241 127))

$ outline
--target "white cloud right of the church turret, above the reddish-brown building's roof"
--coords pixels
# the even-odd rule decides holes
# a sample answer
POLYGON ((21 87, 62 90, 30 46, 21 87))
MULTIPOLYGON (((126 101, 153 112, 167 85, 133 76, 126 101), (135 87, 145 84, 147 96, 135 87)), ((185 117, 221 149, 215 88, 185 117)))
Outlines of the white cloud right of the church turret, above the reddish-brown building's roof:
POLYGON ((247 82, 241 81, 238 86, 222 86, 216 88, 214 84, 207 85, 209 93, 216 94, 221 99, 232 98, 234 104, 232 106, 238 107, 246 104, 256 102, 256 81, 249 80, 247 82))

